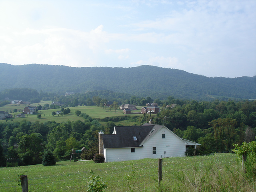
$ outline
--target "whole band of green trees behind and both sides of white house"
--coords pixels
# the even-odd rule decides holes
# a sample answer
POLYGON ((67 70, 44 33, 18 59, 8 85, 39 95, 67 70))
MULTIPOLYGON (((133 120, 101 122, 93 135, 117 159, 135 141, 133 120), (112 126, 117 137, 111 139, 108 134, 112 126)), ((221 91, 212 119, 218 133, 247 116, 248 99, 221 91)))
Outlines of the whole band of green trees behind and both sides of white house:
MULTIPOLYGON (((102 98, 98 100, 104 101, 102 98)), ((136 102, 136 99, 130 101, 136 102)), ((164 124, 181 138, 200 143, 202 146, 196 149, 197 154, 229 151, 234 148, 233 144, 255 140, 256 100, 198 102, 168 97, 166 102, 177 104, 174 108, 166 108, 161 102, 161 111, 156 115, 103 118, 104 125, 98 119, 78 112, 76 114, 82 116, 83 121, 1 121, 0 143, 5 145, 0 147, 0 158, 18 157, 22 165, 37 164, 42 162, 44 150, 53 152, 58 160, 68 160, 73 148, 86 147, 90 159, 98 152, 98 132, 111 134, 115 125, 122 125, 118 123, 122 120, 130 120, 134 125, 142 125, 150 119, 155 124, 164 124), (16 143, 18 148, 14 147, 16 143)), ((191 149, 188 154, 194 152, 191 149)))

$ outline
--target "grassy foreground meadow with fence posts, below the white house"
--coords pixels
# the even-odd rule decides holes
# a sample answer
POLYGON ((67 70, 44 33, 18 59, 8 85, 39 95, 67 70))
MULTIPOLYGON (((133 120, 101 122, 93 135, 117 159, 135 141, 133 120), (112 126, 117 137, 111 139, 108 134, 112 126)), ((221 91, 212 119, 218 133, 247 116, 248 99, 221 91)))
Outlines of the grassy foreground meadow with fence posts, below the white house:
MULTIPOLYGON (((30 192, 82 192, 87 190, 90 170, 107 182, 106 192, 160 191, 156 182, 157 159, 102 164, 63 161, 55 166, 0 168, 0 191, 21 191, 17 182, 18 174, 26 174, 30 192)), ((235 154, 164 158, 162 184, 161 191, 168 192, 256 191, 255 180, 243 176, 241 162, 235 154)))

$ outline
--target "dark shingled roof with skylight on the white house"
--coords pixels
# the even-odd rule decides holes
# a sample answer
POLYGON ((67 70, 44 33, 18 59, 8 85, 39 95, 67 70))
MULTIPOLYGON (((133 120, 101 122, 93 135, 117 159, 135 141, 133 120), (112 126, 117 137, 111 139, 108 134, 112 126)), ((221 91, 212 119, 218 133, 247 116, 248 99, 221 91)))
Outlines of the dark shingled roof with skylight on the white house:
POLYGON ((139 147, 154 126, 115 126, 116 134, 103 135, 104 148, 139 147), (134 136, 137 141, 134 141, 134 136))

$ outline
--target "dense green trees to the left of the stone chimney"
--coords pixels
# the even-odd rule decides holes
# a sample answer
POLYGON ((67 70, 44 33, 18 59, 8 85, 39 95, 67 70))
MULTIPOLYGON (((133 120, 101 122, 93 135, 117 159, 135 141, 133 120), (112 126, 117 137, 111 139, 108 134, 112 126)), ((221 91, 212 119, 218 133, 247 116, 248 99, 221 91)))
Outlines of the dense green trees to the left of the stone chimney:
POLYGON ((84 121, 0 122, 0 158, 19 158, 20 165, 40 164, 44 151, 52 152, 57 160, 68 160, 72 149, 86 147, 87 158, 91 159, 98 153, 98 132, 110 133, 115 124, 109 121, 103 126, 87 114, 79 114, 84 121))

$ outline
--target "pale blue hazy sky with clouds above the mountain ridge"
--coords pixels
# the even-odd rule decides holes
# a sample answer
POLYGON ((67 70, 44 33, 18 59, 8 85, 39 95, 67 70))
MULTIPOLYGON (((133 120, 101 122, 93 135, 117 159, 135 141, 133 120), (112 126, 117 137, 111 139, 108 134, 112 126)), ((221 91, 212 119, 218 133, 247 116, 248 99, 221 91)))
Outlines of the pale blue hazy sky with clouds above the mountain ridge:
POLYGON ((0 62, 252 77, 255 10, 255 0, 0 0, 0 62))

